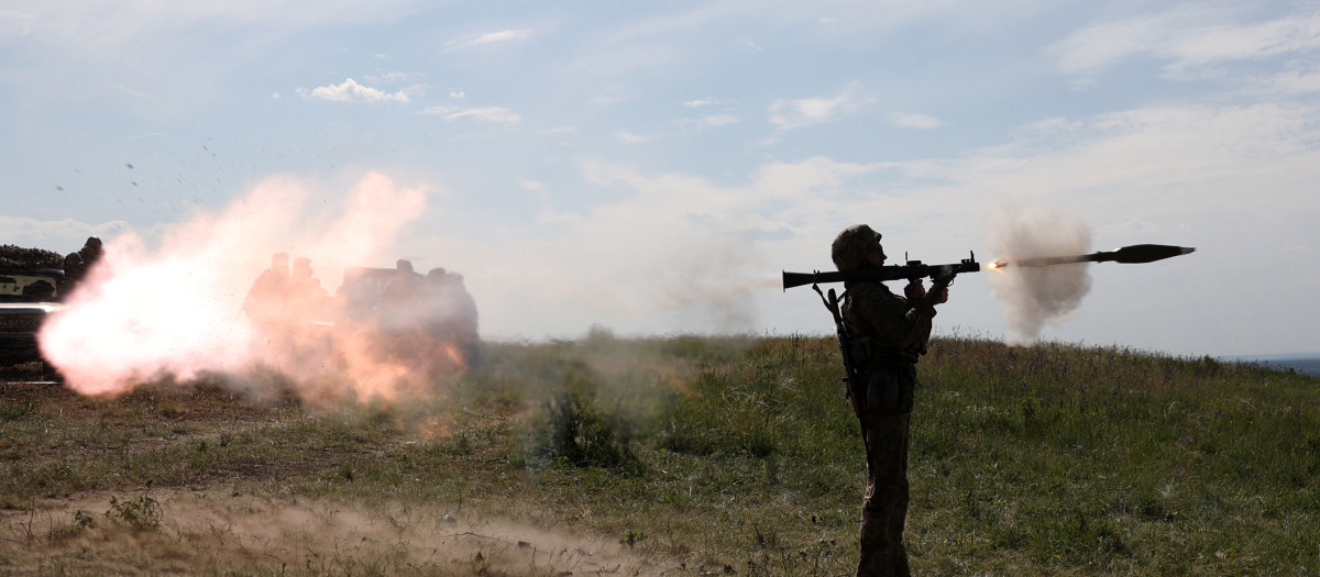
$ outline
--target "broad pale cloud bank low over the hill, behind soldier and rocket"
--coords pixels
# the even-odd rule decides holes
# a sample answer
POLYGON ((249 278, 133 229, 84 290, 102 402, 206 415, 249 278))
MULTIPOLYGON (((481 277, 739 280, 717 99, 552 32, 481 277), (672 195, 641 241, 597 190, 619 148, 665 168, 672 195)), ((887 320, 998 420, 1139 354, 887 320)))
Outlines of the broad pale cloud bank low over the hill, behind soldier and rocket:
MULTIPOLYGON (((883 227, 895 260, 911 249, 915 258, 950 262, 975 249, 989 261, 994 256, 982 253, 981 237, 989 208, 998 198, 1023 198, 1078 215, 1094 227, 1101 249, 1199 246, 1167 263, 1097 267, 1086 302, 1047 337, 1220 353, 1232 343, 1214 335, 1254 327, 1254 316, 1272 321, 1269 331, 1276 333, 1253 335, 1259 337, 1253 345, 1269 350, 1304 341, 1315 312, 1258 299, 1224 315, 1204 311, 1250 300, 1261 278, 1290 294, 1315 290, 1316 274, 1305 267, 1280 274, 1280 261, 1262 258, 1258 246, 1316 249, 1316 126, 1315 105, 1150 107, 1036 123, 1005 146, 946 158, 768 163, 741 183, 589 162, 582 179, 609 188, 607 202, 579 209, 581 219, 543 215, 502 244, 470 246, 466 258, 474 270, 492 263, 487 278, 525 271, 517 285, 474 286, 492 302, 528 304, 483 311, 483 323, 506 335, 531 328, 572 336, 565 331, 595 321, 645 333, 766 324, 822 331, 828 323, 820 324, 814 295, 785 296, 772 273, 828 267, 829 240, 855 221, 883 227), (527 253, 529 242, 543 250, 527 253), (1222 274, 1225 262, 1241 274, 1222 274), (615 290, 581 298, 602 283, 615 290)), ((945 327, 998 327, 1001 307, 983 282, 960 279, 945 327)))

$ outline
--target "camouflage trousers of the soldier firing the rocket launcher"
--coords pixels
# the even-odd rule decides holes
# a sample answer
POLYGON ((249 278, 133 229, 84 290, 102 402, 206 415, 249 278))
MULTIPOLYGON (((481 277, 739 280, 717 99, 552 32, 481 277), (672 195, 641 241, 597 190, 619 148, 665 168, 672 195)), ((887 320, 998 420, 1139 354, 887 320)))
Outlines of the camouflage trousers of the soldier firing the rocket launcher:
POLYGON ((862 501, 861 561, 858 577, 907 577, 907 549, 903 527, 907 522, 907 453, 912 390, 916 371, 911 368, 882 373, 870 379, 863 420, 866 422, 866 498, 862 501), (892 387, 899 387, 898 407, 892 387))

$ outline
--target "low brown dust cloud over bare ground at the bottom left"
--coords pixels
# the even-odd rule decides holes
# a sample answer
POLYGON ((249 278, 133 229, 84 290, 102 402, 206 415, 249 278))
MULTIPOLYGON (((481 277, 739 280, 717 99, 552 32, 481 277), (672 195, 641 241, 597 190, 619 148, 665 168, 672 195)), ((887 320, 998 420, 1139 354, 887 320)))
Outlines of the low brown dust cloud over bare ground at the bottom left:
POLYGON ((102 515, 110 497, 87 494, 55 503, 36 523, 26 511, 0 514, 0 536, 28 544, 25 555, 8 560, 9 566, 24 574, 48 573, 51 566, 86 574, 195 574, 223 568, 242 574, 560 576, 675 569, 603 535, 553 522, 517 523, 463 506, 157 490, 149 497, 148 512, 154 516, 143 515, 157 523, 154 531, 133 531, 102 515), (33 530, 49 537, 32 540, 33 530))

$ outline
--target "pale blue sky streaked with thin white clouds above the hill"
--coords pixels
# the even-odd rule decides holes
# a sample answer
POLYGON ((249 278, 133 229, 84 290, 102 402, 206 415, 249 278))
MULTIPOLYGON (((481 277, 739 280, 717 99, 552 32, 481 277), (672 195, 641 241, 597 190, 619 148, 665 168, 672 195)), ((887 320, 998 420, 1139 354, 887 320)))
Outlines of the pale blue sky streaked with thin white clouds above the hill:
MULTIPOLYGON (((1039 340, 1315 352, 1317 96, 1307 1, 4 0, 0 242, 269 213, 228 277, 408 258, 488 339, 830 335, 780 271, 845 227, 940 263, 1057 223, 1196 252, 1090 265, 1039 340)), ((991 274, 939 333, 1012 340, 991 274)))

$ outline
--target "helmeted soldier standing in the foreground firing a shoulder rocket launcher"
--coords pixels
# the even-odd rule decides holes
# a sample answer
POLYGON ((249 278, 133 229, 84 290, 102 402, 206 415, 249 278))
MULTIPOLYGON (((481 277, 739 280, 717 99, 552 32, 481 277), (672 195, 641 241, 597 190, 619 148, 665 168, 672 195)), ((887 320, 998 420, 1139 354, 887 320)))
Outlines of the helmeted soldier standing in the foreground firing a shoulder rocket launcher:
MULTIPOLYGON (((843 229, 832 246, 841 271, 883 266, 880 233, 865 224, 843 229)), ((948 290, 927 294, 921 279, 895 295, 879 282, 845 283, 843 324, 853 335, 851 356, 858 365, 862 432, 866 436, 866 497, 862 502, 858 577, 908 576, 903 527, 908 505, 908 428, 916 387, 916 362, 931 339, 935 306, 949 299, 948 290)))

